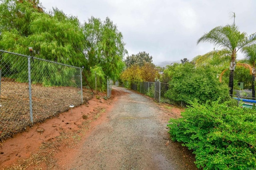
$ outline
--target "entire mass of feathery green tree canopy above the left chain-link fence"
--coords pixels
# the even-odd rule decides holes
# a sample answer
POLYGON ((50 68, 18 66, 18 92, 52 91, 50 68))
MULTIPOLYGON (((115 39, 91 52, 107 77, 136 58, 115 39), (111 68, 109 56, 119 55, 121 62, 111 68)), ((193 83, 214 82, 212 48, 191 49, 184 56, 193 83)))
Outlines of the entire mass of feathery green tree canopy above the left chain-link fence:
MULTIPOLYGON (((28 47, 33 47, 34 57, 85 66, 88 72, 100 68, 99 74, 118 79, 127 51, 122 33, 109 18, 92 17, 81 24, 58 8, 43 9, 39 0, 2 0, 0 49, 30 55, 28 47)), ((12 61, 2 62, 14 68, 12 61)))

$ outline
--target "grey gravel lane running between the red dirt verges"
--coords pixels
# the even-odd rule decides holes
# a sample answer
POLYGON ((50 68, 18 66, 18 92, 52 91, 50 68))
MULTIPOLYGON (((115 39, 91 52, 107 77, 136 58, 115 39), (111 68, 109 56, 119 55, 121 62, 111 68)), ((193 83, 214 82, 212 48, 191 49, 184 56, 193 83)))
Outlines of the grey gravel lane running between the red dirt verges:
POLYGON ((152 99, 113 87, 117 100, 104 121, 86 138, 72 170, 194 170, 192 154, 168 141, 168 119, 152 99), (166 119, 166 117, 165 117, 166 119))

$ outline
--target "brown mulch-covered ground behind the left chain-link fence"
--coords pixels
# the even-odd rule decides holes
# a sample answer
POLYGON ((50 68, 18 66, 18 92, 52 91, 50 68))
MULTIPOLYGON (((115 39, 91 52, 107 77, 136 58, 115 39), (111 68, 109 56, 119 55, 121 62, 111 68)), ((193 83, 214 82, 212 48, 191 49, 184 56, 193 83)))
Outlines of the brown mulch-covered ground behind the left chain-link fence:
MULTIPOLYGON (((86 103, 92 98, 92 92, 83 89, 86 103)), ((33 122, 42 122, 70 109, 70 105, 82 104, 81 89, 72 87, 44 87, 32 84, 33 122)), ((0 98, 0 140, 12 137, 31 126, 28 83, 10 80, 1 81, 0 98)))

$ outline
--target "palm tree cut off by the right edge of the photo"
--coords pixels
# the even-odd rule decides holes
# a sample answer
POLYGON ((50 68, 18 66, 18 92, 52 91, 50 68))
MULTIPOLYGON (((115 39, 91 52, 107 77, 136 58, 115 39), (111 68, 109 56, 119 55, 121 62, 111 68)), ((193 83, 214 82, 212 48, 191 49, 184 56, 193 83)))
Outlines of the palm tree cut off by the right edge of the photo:
POLYGON ((244 47, 242 51, 245 54, 245 58, 252 65, 252 98, 255 100, 255 73, 256 73, 256 44, 244 47))

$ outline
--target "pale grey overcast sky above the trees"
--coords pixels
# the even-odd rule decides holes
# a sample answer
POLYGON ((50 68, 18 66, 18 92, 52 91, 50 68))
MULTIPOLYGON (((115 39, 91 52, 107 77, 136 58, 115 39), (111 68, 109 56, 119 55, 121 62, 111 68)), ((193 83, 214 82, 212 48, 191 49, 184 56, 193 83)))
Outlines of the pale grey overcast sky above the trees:
MULTIPOLYGON (((146 51, 154 64, 190 61, 211 51, 197 40, 212 28, 233 23, 241 32, 256 32, 255 0, 40 0, 46 10, 57 7, 81 23, 109 17, 122 32, 129 55, 146 51)), ((238 59, 242 59, 241 53, 238 59)))

